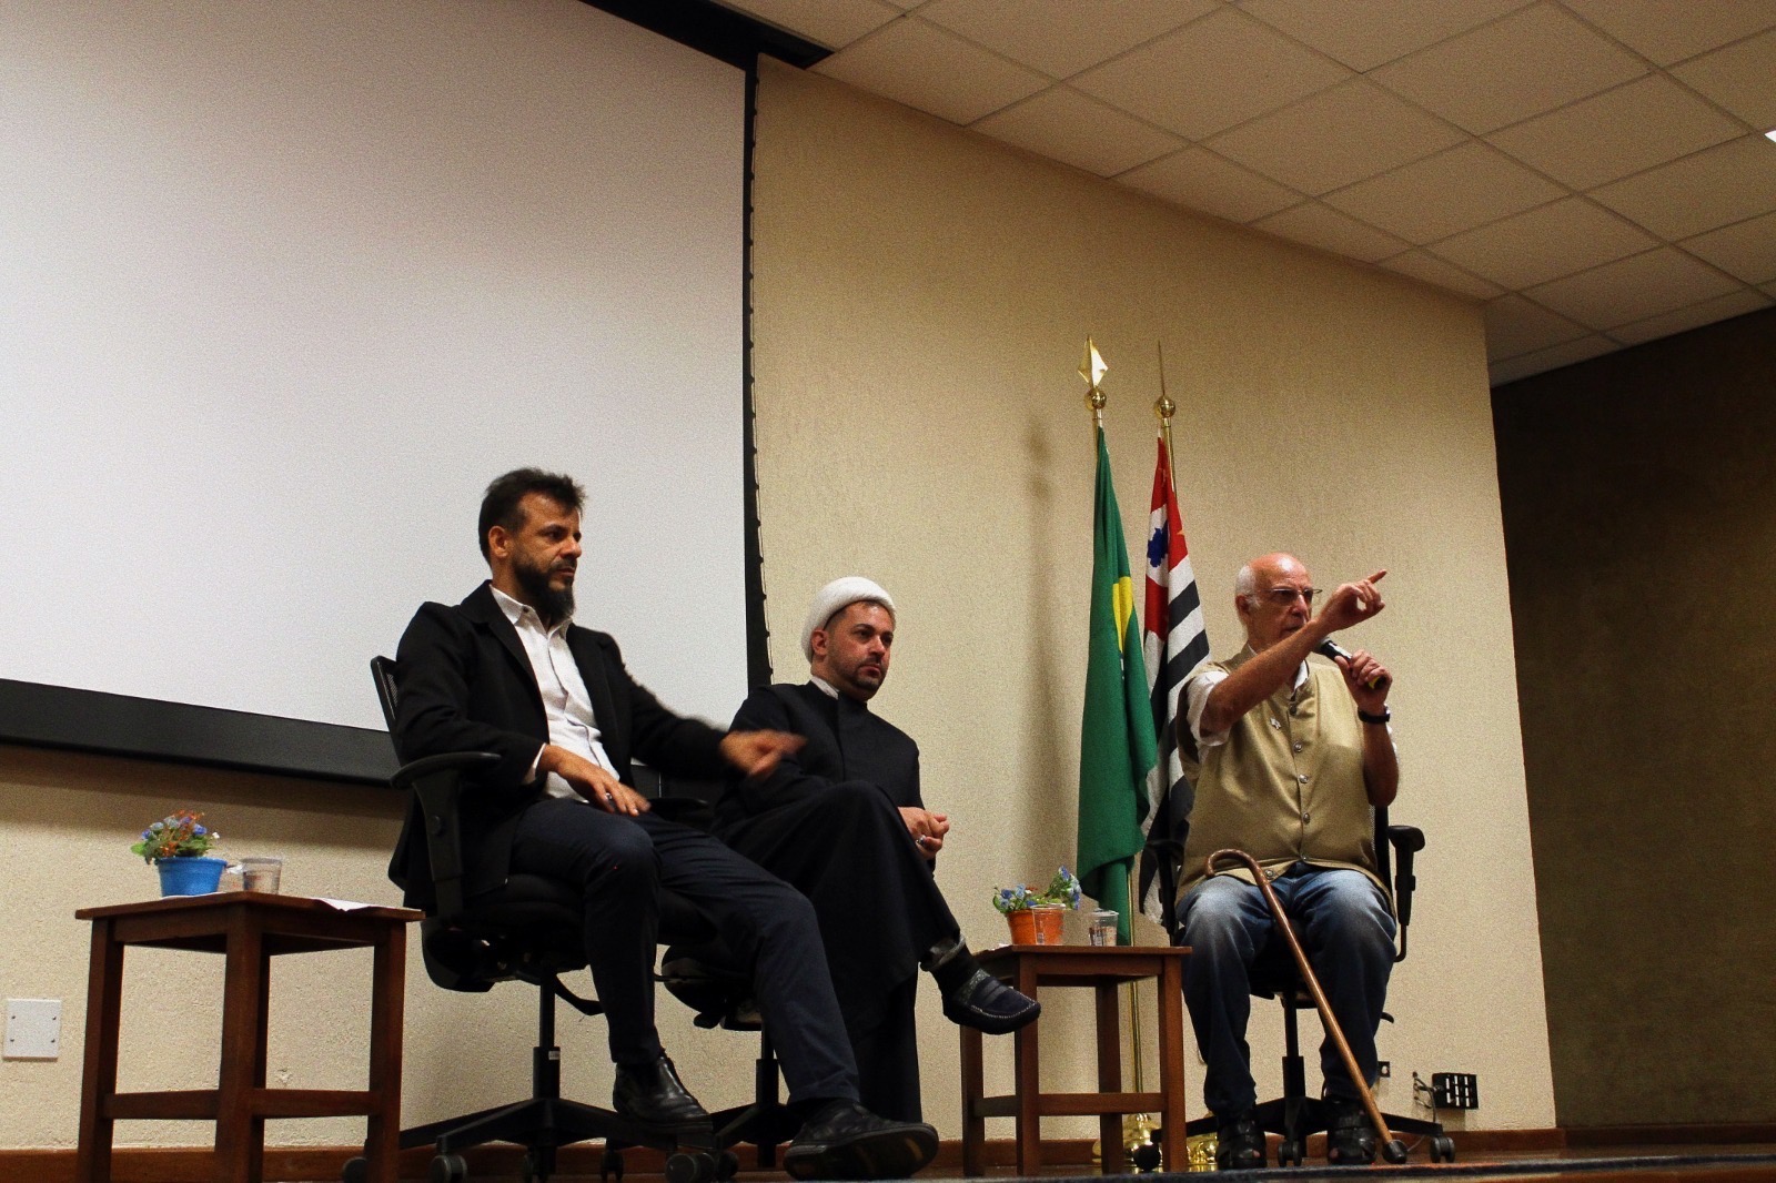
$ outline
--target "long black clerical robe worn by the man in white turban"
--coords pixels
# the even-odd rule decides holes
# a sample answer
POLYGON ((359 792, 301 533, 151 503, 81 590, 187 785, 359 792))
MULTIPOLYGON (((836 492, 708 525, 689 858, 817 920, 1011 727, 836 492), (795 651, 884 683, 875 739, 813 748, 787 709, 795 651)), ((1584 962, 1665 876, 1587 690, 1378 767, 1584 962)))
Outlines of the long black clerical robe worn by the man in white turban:
POLYGON ((808 742, 764 780, 735 778, 716 805, 716 833, 813 902, 863 1103, 918 1121, 918 963, 957 936, 900 817, 900 808, 924 808, 918 744, 865 703, 812 682, 755 689, 733 730, 758 728, 808 742))

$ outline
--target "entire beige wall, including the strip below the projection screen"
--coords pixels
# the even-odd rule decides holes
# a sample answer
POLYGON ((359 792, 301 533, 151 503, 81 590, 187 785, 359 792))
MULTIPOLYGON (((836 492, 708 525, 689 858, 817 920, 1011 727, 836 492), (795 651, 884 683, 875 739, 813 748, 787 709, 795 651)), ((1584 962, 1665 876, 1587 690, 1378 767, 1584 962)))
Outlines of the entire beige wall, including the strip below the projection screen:
MULTIPOLYGON (((1000 940, 991 886, 1073 853, 1092 480, 1080 345, 1094 334, 1112 366, 1106 425, 1138 563, 1163 339, 1217 648, 1234 639, 1225 588, 1256 551, 1295 549, 1321 583, 1392 570, 1389 615, 1360 639, 1398 670, 1398 817, 1424 824, 1431 846, 1414 956, 1391 1000, 1399 1027, 1382 1036, 1396 1068, 1384 1101, 1408 1105, 1412 1071, 1474 1071, 1474 1126, 1550 1124, 1478 313, 776 66, 760 85, 757 169, 773 654, 799 677, 806 595, 835 574, 870 574, 900 600, 879 705, 918 737, 927 798, 955 821, 940 877, 975 943, 1000 940)), ((378 790, 0 748, 12 853, 0 867, 0 989, 64 1000, 62 1059, 0 1064, 0 1146, 73 1142, 85 991, 73 911, 153 893, 153 872, 124 847, 181 805, 206 810, 234 854, 289 858, 293 892, 394 901, 382 867, 396 803, 378 790)), ((352 956, 275 972, 272 1048, 291 1085, 361 1080, 364 968, 352 956)), ((131 1087, 213 1080, 218 966, 206 961, 131 957, 131 1087)), ((927 1116, 955 1137, 957 1039, 929 989, 922 1007, 927 1116)), ((703 1100, 739 1100, 751 1043, 691 1030, 675 1004, 661 1011, 703 1100)), ((1085 1087, 1085 1016, 1069 998, 1044 1020, 1053 1084, 1085 1087)), ((519 1094, 529 1025, 527 993, 446 995, 416 961, 407 1117, 519 1094)), ((1275 1028, 1261 1009, 1265 1091, 1277 1087, 1275 1028)), ((563 1021, 570 1092, 607 1096, 602 1039, 597 1021, 563 1021)), ((987 1068, 989 1087, 1009 1089, 1007 1046, 987 1068)), ((1090 1124, 1053 1131, 1089 1137, 1090 1124)), ((123 1137, 192 1144, 208 1131, 144 1123, 123 1137)), ((281 1142, 353 1137, 346 1121, 274 1126, 281 1142)))

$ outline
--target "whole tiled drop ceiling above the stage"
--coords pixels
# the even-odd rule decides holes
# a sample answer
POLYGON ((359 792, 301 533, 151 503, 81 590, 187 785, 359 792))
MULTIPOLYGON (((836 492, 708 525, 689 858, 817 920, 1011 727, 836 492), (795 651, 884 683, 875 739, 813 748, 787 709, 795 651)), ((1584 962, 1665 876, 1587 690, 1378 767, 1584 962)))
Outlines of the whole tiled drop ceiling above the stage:
POLYGON ((863 91, 1485 306, 1492 382, 1776 304, 1776 0, 721 0, 863 91))

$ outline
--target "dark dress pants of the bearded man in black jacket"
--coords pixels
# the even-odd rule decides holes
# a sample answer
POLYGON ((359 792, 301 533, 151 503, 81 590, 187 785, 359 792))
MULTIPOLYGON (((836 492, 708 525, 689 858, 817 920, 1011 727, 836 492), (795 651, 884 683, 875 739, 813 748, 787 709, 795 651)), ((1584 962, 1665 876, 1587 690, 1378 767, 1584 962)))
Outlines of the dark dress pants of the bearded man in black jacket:
POLYGON ((751 966, 790 1101, 858 1098, 821 925, 796 888, 702 830, 561 798, 524 810, 511 840, 511 870, 579 888, 591 981, 609 1020, 614 1062, 652 1064, 661 1055, 654 961, 666 890, 687 899, 739 965, 751 966))

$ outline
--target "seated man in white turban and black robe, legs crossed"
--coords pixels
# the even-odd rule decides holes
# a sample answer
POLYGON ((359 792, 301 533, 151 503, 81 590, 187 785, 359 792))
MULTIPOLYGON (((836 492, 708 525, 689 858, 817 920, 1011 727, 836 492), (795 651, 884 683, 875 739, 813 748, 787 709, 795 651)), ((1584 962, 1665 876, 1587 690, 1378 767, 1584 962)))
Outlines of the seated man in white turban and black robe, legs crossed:
POLYGON ((801 631, 810 680, 758 687, 733 718, 735 730, 808 742, 769 776, 733 778, 716 805, 716 833, 813 902, 863 1105, 918 1121, 922 968, 955 1023, 1003 1034, 1041 1007, 980 968, 938 890, 932 869, 950 821, 920 798, 918 744, 868 709, 893 636, 893 599, 876 583, 847 576, 815 593, 801 631))

